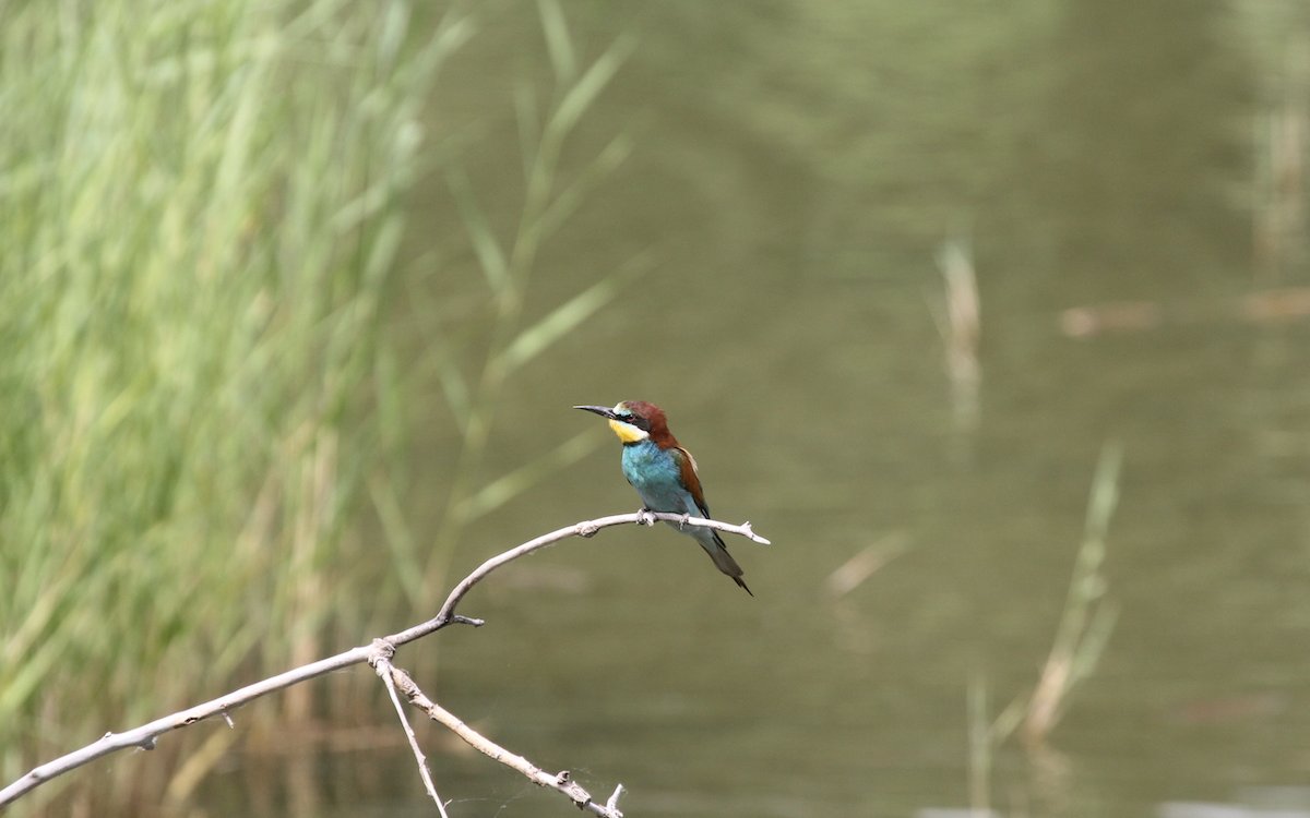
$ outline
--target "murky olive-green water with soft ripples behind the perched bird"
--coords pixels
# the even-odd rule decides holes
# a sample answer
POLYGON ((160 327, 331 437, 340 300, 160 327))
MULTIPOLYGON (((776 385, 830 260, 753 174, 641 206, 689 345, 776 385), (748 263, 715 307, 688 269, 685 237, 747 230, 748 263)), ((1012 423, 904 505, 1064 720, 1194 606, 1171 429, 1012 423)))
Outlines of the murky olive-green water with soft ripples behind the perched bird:
MULTIPOLYGON (((1310 814, 1310 321, 1242 311, 1310 284, 1298 194, 1263 182, 1271 119, 1310 101, 1310 14, 1254 5, 566 7, 584 58, 635 38, 570 162, 617 133, 633 152, 544 250, 528 313, 652 263, 510 382, 486 472, 588 425, 596 450, 452 569, 634 510, 617 441, 569 408, 631 398, 667 408, 717 516, 773 544, 730 541, 753 599, 664 527, 553 548, 476 590, 489 624, 431 640, 419 682, 593 793, 621 781, 629 815, 1310 814), (1254 241, 1271 212, 1292 228, 1254 241), (952 238, 981 301, 976 415, 939 325, 952 238), (971 762, 971 724, 1038 681, 1114 444, 1104 652, 1041 749, 971 762), (887 560, 834 598, 865 551, 887 560)), ((533 7, 477 14, 432 122, 507 233, 511 93, 548 89, 546 58, 533 7)), ((418 207, 456 311, 472 254, 440 181, 418 207)), ((455 436, 432 418, 436 495, 455 436)), ((424 737, 452 815, 571 814, 424 737)), ((432 814, 403 747, 320 767, 312 814, 432 814)), ((231 775, 212 809, 249 811, 231 775)))

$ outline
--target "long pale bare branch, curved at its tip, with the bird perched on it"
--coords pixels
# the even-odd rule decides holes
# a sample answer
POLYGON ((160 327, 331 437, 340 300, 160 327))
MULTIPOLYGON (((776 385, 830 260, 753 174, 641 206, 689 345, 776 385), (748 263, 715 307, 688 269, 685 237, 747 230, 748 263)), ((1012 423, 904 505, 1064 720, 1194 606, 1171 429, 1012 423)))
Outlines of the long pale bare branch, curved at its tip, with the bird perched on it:
MULTIPOLYGON (((541 537, 525 542, 516 548, 511 548, 503 554, 498 554, 496 556, 493 556, 491 559, 478 565, 477 569, 473 571, 473 573, 464 577, 464 580, 455 586, 449 597, 447 597, 445 603, 441 606, 440 613, 438 613, 436 616, 428 619, 422 624, 406 628, 405 631, 401 631, 398 633, 392 633, 390 636, 385 636, 381 640, 373 640, 369 644, 351 648, 350 650, 345 650, 335 656, 329 656, 328 658, 321 658, 316 662, 293 667, 284 673, 279 673, 278 675, 269 677, 267 679, 254 682, 253 685, 246 685, 245 687, 224 694, 217 699, 211 699, 210 702, 206 702, 203 704, 196 704, 187 709, 178 711, 168 716, 162 716, 160 719, 156 719, 155 721, 143 724, 138 728, 132 728, 123 733, 105 733, 105 736, 102 736, 98 741, 94 741, 86 745, 85 747, 62 755, 60 758, 46 762, 45 764, 39 764, 22 777, 7 785, 4 789, 0 789, 0 808, 13 804, 26 793, 45 784, 46 781, 56 776, 60 776, 66 772, 71 772, 72 770, 76 770, 85 764, 89 764, 90 762, 102 758, 105 755, 109 755, 110 753, 117 753, 119 750, 128 750, 132 747, 153 750, 156 739, 164 733, 191 726, 198 721, 204 721, 206 719, 214 719, 214 717, 224 719, 231 726, 232 725, 231 712, 250 702, 254 702, 255 699, 259 699, 261 696, 266 696, 271 692, 286 690, 295 685, 300 685, 301 682, 308 682, 309 679, 321 677, 328 673, 333 673, 335 670, 342 670, 352 665, 362 665, 369 662, 371 660, 381 657, 381 653, 379 653, 380 648, 377 643, 384 643, 389 645, 390 650, 394 650, 400 645, 411 643, 417 639, 422 639, 423 636, 440 631, 441 628, 451 624, 472 624, 474 627, 481 626, 482 624, 481 619, 461 616, 455 613, 455 609, 458 606, 460 601, 464 599, 464 597, 469 593, 469 590, 472 590, 474 585, 481 582, 487 575, 490 575, 500 565, 516 560, 520 556, 532 554, 533 551, 537 551, 540 548, 553 546, 557 542, 567 539, 570 537, 583 537, 583 538, 595 537, 596 533, 600 531, 601 529, 608 529, 616 525, 642 522, 650 517, 655 517, 656 520, 663 520, 665 522, 680 522, 685 525, 707 526, 711 529, 718 529, 719 531, 726 531, 728 534, 739 534, 757 543, 764 543, 764 544, 769 543, 768 539, 757 535, 755 531, 751 530, 749 522, 743 525, 732 525, 727 522, 719 522, 717 520, 703 520, 700 517, 683 517, 681 514, 665 514, 665 513, 651 514, 650 512, 631 513, 631 514, 613 514, 610 517, 601 517, 599 520, 584 520, 575 525, 565 526, 549 534, 542 534, 541 537)), ((389 657, 386 657, 385 661, 388 661, 389 664, 389 657)), ((396 669, 392 667, 392 670, 394 671, 396 669)), ((451 716, 451 719, 455 719, 455 716, 451 716)), ((456 719, 455 721, 458 720, 456 719)), ((443 724, 445 722, 443 721, 443 724)), ((494 747, 495 745, 491 746, 494 747)), ((504 754, 506 756, 510 755, 504 751, 500 753, 504 754)), ((489 755, 491 755, 493 758, 498 758, 496 755, 493 755, 490 753, 489 755)), ((520 772, 523 772, 524 768, 536 770, 534 767, 528 764, 528 762, 521 756, 514 756, 514 758, 520 760, 525 766, 525 767, 517 767, 515 764, 510 764, 511 767, 515 767, 520 772)), ((538 770, 537 772, 541 771, 538 770)), ((527 775, 527 772, 524 775, 527 775)), ((541 774, 541 775, 549 777, 550 783, 537 781, 538 784, 559 789, 559 792, 563 792, 570 798, 574 798, 576 804, 583 804, 579 802, 574 796, 579 793, 586 796, 586 791, 582 791, 582 788, 578 788, 576 784, 570 781, 567 774, 559 774, 558 776, 549 776, 549 774, 541 774)), ((617 794, 618 791, 616 791, 616 794, 610 797, 612 804, 617 801, 617 794)), ((591 796, 586 796, 587 804, 591 804, 590 798, 591 796)), ((613 809, 612 806, 607 808, 595 805, 591 809, 592 811, 596 811, 597 809, 601 810, 610 809, 609 813, 597 811, 596 814, 613 815, 613 817, 620 815, 617 809, 613 809)))

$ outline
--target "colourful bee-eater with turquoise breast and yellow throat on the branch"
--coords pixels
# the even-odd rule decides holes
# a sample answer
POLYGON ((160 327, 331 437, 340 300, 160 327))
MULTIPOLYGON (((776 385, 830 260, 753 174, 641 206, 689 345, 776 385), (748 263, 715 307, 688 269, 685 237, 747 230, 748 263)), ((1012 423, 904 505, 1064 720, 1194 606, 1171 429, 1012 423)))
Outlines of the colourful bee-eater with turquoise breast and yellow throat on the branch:
MULTIPOLYGON (((701 476, 696 472, 696 458, 677 444, 668 431, 664 411, 645 400, 624 400, 609 408, 605 406, 575 406, 609 420, 609 428, 624 441, 624 476, 633 484, 643 510, 665 512, 709 520, 710 507, 705 504, 701 476)), ((710 555, 719 571, 732 577, 745 593, 751 589, 741 581, 741 565, 728 554, 723 538, 714 529, 701 525, 673 527, 696 538, 710 555)), ((755 594, 751 594, 752 597, 755 594)))

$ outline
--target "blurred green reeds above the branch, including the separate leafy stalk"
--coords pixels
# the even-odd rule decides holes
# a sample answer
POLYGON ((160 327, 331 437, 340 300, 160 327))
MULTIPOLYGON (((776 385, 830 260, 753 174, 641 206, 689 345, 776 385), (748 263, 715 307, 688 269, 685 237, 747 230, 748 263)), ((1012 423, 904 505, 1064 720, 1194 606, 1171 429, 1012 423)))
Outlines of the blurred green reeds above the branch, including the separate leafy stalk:
MULTIPOLYGON (((4 9, 4 780, 364 640, 397 607, 415 620, 470 521, 593 448, 579 435, 479 478, 503 383, 647 267, 634 257, 524 318, 538 249, 627 152, 614 137, 561 170, 631 43, 590 62, 561 8, 536 5, 552 82, 503 102, 524 185, 502 238, 458 149, 421 151, 441 128, 435 75, 474 34, 432 10, 4 9), (478 283, 453 284, 430 241, 406 241, 423 179, 447 190, 460 220, 440 240, 477 259, 478 283), (445 321, 443 287, 474 332, 445 321), (409 487, 410 429, 431 415, 415 382, 435 383, 455 427, 444 487, 409 487), (448 492, 435 543, 410 510, 434 488, 448 492)), ((308 690, 282 702, 292 722, 320 712, 308 690)), ((181 779, 203 776, 195 758, 216 755, 181 779)), ((151 767, 157 793, 170 764, 151 767)))

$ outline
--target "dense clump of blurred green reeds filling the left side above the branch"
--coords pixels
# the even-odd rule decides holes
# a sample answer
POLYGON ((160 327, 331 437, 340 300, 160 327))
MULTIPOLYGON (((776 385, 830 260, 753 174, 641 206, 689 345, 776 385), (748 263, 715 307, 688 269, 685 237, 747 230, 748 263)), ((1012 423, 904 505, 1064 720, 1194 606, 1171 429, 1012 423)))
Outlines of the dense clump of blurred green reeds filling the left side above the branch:
POLYGON ((0 777, 316 653, 350 593, 415 123, 469 34, 409 13, 0 5, 0 777))

